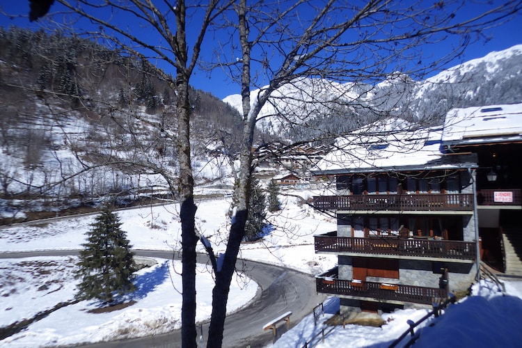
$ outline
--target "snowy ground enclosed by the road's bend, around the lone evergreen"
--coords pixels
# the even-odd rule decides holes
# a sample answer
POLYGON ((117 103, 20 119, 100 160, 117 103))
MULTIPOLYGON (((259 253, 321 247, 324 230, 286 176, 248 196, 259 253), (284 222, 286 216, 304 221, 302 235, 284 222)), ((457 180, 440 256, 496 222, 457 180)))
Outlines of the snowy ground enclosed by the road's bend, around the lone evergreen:
MULTIPOLYGON (((73 257, 40 257, 1 260, 3 282, 17 279, 3 288, 1 326, 30 318, 54 304, 74 297, 73 257), (32 267, 27 267, 32 265, 32 267), (47 264, 46 273, 38 276, 39 264, 47 264), (35 276, 36 275, 36 276, 35 276), (21 281, 23 279, 23 281, 21 281), (45 282, 45 283, 44 283, 45 282), (42 283, 48 288, 42 289, 42 283)), ((31 324, 29 329, 0 341, 10 347, 41 347, 47 345, 74 345, 79 342, 100 342, 113 338, 133 338, 143 333, 164 333, 180 329, 181 312, 180 262, 157 259, 153 267, 141 269, 135 283, 138 287, 125 300, 136 301, 123 310, 109 313, 90 313, 100 308, 99 301, 81 301, 56 310, 48 317, 31 324)), ((198 308, 196 319, 209 317, 212 307, 212 276, 200 266, 197 277, 198 308)), ((251 301, 257 291, 253 282, 232 281, 232 296, 228 311, 236 310, 251 301)))

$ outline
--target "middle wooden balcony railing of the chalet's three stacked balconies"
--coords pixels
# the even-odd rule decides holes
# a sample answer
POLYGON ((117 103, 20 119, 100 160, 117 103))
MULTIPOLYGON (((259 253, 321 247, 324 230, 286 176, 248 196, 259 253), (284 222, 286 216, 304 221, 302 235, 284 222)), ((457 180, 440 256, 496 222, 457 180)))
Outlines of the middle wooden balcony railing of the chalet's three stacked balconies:
POLYGON ((475 242, 398 237, 337 237, 332 232, 315 236, 315 252, 366 253, 374 255, 416 256, 475 260, 475 242))

